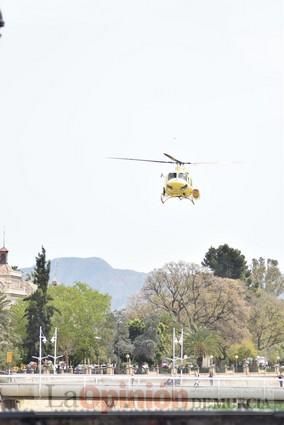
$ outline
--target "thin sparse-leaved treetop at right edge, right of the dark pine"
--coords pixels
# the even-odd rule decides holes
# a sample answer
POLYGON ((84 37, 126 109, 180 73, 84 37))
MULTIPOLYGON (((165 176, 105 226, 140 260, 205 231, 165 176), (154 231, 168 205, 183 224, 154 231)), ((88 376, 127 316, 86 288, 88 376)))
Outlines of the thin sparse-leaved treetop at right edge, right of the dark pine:
POLYGON ((250 289, 264 289, 268 293, 279 296, 284 291, 284 277, 280 272, 278 261, 260 257, 253 258, 250 276, 247 279, 250 289))

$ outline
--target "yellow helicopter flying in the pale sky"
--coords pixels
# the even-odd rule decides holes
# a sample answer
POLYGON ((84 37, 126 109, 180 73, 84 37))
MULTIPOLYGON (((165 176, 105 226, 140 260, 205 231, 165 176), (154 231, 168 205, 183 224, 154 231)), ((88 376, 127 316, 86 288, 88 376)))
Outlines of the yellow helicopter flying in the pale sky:
POLYGON ((109 157, 109 159, 120 159, 125 161, 143 161, 143 162, 154 162, 159 164, 176 164, 175 170, 169 172, 164 177, 164 184, 161 193, 161 202, 164 204, 171 198, 188 199, 193 204, 200 198, 200 191, 192 185, 192 179, 189 173, 187 165, 201 164, 200 162, 184 162, 174 158, 168 153, 164 155, 169 160, 153 160, 153 159, 140 159, 140 158, 120 158, 120 157, 109 157))

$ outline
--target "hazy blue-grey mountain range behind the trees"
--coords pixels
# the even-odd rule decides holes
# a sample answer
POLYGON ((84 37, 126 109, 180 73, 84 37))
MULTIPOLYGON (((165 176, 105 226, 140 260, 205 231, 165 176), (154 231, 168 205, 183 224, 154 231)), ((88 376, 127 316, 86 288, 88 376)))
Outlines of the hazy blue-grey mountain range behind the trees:
MULTIPOLYGON (((91 288, 107 293, 112 298, 112 308, 126 306, 128 298, 139 292, 147 273, 115 269, 101 258, 65 257, 50 262, 50 280, 58 284, 72 285, 76 281, 87 283, 91 288)), ((24 274, 33 267, 22 268, 24 274)))

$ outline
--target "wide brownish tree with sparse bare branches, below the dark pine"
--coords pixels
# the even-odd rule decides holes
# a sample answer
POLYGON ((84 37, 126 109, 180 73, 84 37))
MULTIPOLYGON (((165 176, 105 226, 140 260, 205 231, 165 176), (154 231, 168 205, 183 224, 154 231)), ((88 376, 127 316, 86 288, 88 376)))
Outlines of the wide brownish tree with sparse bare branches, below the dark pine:
POLYGON ((156 313, 166 312, 191 331, 222 331, 232 341, 245 336, 249 306, 240 281, 215 277, 193 264, 168 263, 150 273, 142 292, 156 313))

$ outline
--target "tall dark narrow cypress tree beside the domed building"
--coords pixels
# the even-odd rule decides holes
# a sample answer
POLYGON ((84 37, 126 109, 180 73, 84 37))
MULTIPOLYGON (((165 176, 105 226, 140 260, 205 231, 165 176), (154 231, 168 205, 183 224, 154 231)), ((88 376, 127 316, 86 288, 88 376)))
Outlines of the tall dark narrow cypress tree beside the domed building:
MULTIPOLYGON (((28 302, 25 316, 27 317, 27 338, 24 342, 26 361, 29 362, 32 356, 39 353, 39 329, 48 338, 51 327, 51 318, 55 308, 49 304, 52 298, 48 295, 48 281, 50 272, 50 261, 46 260, 45 249, 36 257, 36 266, 33 272, 33 283, 37 285, 37 290, 25 298, 28 302)), ((44 353, 44 345, 42 346, 44 353)))

